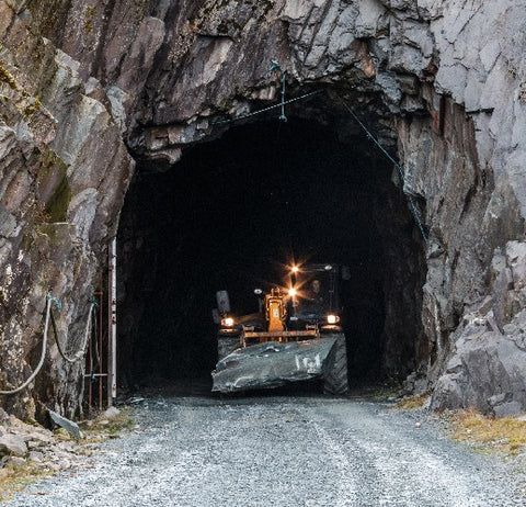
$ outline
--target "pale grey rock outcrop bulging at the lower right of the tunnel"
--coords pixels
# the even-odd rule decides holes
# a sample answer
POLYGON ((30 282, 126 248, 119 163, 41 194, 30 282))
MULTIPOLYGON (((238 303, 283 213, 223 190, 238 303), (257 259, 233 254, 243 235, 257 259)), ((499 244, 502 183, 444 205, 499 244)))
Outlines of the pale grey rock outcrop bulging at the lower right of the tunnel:
POLYGON ((507 241, 492 259, 490 294, 451 335, 455 351, 435 386, 435 408, 477 406, 510 416, 526 406, 526 245, 507 241))

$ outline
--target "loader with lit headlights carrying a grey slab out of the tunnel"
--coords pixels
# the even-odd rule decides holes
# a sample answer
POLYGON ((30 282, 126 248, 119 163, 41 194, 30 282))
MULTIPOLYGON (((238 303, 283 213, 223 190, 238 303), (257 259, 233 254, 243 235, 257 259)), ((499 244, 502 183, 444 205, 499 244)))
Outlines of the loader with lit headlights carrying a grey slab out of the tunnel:
POLYGON ((345 394, 347 356, 341 327, 340 281, 345 268, 304 264, 288 280, 264 292, 255 289, 259 309, 236 315, 227 291, 216 294, 218 363, 213 391, 233 393, 273 388, 319 378, 327 394, 345 394))

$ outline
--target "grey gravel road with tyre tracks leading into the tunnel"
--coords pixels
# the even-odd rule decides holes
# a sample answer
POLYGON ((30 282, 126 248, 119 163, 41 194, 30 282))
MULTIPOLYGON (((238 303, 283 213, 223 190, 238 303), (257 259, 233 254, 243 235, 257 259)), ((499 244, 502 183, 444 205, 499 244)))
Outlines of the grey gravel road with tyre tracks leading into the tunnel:
POLYGON ((387 404, 151 397, 137 420, 140 429, 105 443, 90 467, 31 485, 5 506, 526 505, 519 461, 478 454, 424 413, 387 404))

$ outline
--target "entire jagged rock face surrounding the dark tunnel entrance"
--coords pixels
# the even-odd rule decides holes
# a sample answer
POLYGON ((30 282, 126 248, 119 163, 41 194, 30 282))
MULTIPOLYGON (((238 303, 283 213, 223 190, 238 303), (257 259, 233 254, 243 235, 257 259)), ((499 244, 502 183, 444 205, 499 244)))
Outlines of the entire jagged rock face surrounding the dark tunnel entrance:
MULTIPOLYGON (((355 135, 343 97, 398 147, 428 232, 423 295, 402 270, 386 295, 422 311, 412 385, 436 384, 436 408, 525 409, 525 37, 518 0, 0 0, 1 385, 34 368, 49 290, 81 343, 133 157, 168 169, 218 119, 275 100, 275 58, 290 93, 329 90, 304 116, 355 135)), ((82 369, 48 357, 9 409, 78 408, 82 369)))

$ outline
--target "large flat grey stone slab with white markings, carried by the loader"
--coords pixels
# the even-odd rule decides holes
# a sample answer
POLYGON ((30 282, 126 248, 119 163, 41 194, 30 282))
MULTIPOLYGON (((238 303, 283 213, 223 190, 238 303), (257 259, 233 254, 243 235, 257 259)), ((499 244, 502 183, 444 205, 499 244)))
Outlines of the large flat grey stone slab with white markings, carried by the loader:
POLYGON ((239 348, 217 363, 211 372, 211 391, 272 388, 322 376, 335 341, 331 337, 288 343, 267 341, 239 348))

